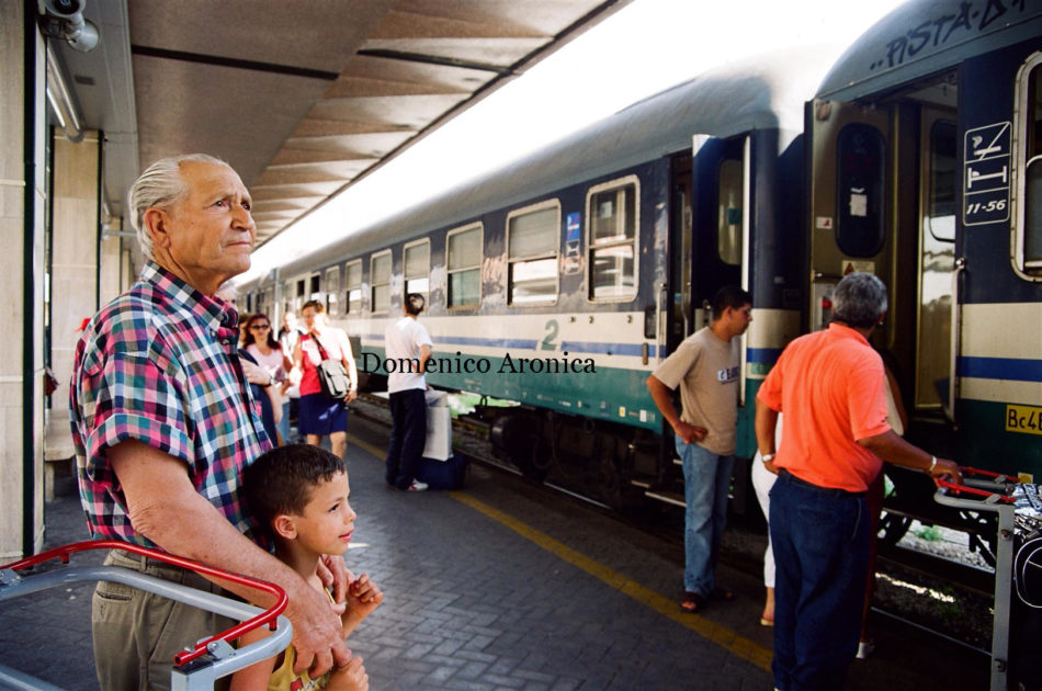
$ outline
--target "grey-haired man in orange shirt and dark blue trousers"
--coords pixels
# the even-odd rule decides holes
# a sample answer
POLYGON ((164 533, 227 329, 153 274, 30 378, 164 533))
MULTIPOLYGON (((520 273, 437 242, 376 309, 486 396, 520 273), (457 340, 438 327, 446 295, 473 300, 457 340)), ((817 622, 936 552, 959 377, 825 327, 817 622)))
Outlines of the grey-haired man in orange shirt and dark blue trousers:
POLYGON ((768 468, 774 548, 774 687, 842 689, 858 650, 871 517, 865 491, 882 461, 950 476, 886 423, 883 360, 869 344, 886 313, 886 288, 851 273, 833 293, 828 329, 785 348, 756 398, 756 437, 768 468), (774 448, 778 412, 785 414, 774 448))

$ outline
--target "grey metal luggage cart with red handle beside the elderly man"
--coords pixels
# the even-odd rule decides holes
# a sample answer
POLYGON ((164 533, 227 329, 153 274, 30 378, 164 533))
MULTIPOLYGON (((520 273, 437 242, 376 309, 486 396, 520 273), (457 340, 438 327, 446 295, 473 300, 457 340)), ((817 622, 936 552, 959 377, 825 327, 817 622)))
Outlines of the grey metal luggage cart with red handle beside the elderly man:
MULTIPOLYGON (((188 647, 174 656, 170 684, 172 691, 202 691, 203 689, 213 689, 214 682, 217 679, 249 667, 253 662, 267 659, 285 649, 286 646, 290 645, 290 639, 293 636, 293 628, 290 625, 290 621, 285 616, 282 616, 282 612, 286 609, 288 599, 286 598, 286 593, 279 586, 256 578, 224 571, 191 559, 115 540, 78 542, 42 552, 41 554, 24 558, 20 562, 14 562, 13 564, 0 566, 0 602, 41 590, 47 590, 48 588, 97 580, 118 582, 139 588, 140 590, 147 590, 148 592, 228 616, 240 622, 227 631, 200 641, 194 647, 188 647), (63 564, 68 564, 70 555, 90 550, 123 550, 133 554, 144 555, 152 559, 191 569, 197 574, 215 576, 234 584, 262 590, 275 596, 278 601, 270 609, 262 610, 246 602, 239 602, 211 592, 203 592, 189 588, 188 586, 172 584, 118 566, 69 566, 67 568, 31 576, 21 576, 18 574, 20 570, 56 558, 60 558, 63 564), (236 649, 233 646, 236 638, 265 624, 273 632, 272 635, 240 649, 236 649)), ((60 691, 59 687, 48 684, 35 677, 11 669, 5 665, 0 665, 0 689, 44 689, 46 691, 60 691)))

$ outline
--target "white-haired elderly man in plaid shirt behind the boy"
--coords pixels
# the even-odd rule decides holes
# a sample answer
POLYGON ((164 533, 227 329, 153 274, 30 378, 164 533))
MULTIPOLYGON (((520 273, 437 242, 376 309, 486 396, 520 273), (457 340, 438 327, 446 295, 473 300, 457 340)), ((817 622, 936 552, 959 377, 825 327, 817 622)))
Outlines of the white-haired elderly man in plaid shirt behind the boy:
MULTIPOLYGON (((337 613, 251 542, 238 496, 240 472, 269 442, 236 354, 238 315, 214 294, 250 267, 249 192, 227 163, 184 156, 146 170, 129 208, 147 263, 84 330, 72 376, 72 437, 90 531, 280 585, 290 597, 298 670, 314 662, 319 675, 344 665, 350 653, 337 613)), ((121 551, 107 563, 217 591, 194 574, 121 551)), ((342 589, 342 562, 330 566, 342 589)), ((256 591, 236 591, 268 604, 256 591)), ((174 654, 223 622, 102 582, 92 625, 99 681, 110 691, 169 688, 174 654)))

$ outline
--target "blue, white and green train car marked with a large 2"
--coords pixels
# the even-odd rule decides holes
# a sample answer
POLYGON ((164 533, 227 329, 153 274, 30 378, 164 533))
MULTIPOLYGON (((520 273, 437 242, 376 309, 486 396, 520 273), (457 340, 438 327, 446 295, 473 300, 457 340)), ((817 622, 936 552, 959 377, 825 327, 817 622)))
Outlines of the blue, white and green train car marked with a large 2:
MULTIPOLYGON (((676 471, 645 386, 705 324, 724 284, 748 288, 738 454, 752 398, 805 311, 806 100, 827 66, 772 56, 709 72, 545 150, 353 234, 246 286, 254 309, 319 296, 383 374, 405 293, 428 296, 429 381, 509 399, 485 410, 500 453, 615 503, 676 471)), ((394 366, 394 365, 392 365, 394 366)))

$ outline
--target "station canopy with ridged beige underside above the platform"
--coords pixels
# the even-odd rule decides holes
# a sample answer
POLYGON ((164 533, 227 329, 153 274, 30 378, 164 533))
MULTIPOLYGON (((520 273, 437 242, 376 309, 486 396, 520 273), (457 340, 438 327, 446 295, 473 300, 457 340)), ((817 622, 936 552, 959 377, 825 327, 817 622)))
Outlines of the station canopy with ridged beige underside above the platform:
POLYGON ((260 243, 627 2, 88 0, 100 44, 53 53, 104 134, 110 218, 149 163, 202 151, 260 243))

